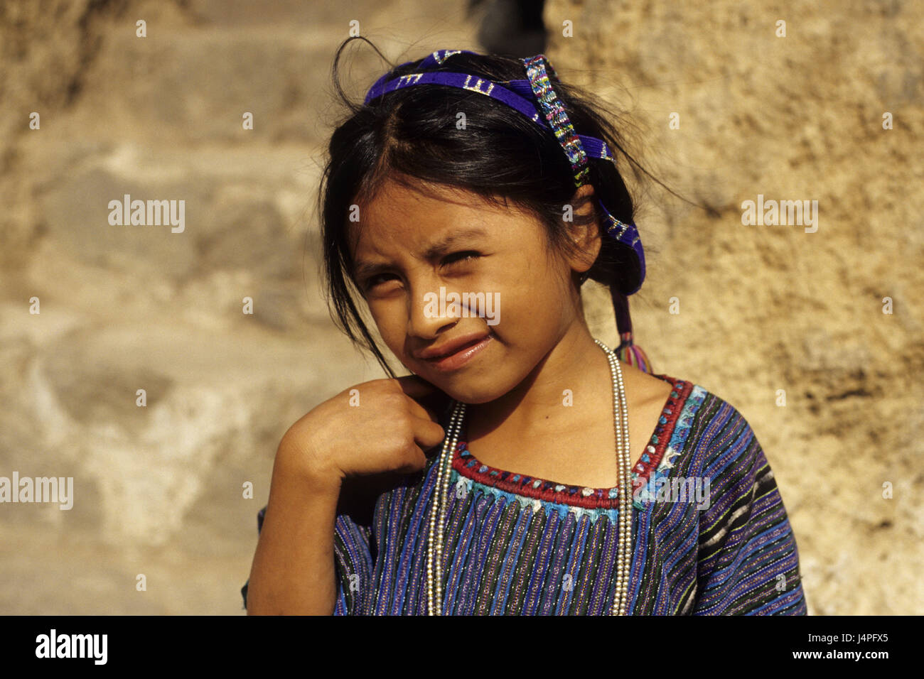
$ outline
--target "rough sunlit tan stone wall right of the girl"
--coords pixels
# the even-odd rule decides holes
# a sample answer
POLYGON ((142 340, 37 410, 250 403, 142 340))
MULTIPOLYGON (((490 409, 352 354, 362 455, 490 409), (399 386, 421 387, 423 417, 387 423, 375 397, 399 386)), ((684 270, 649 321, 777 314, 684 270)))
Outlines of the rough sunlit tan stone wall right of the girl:
POLYGON ((924 612, 922 21, 910 2, 545 11, 559 74, 626 111, 639 162, 701 206, 640 187, 657 252, 636 339, 748 419, 811 614, 924 612), (744 225, 759 195, 817 200, 817 224, 744 225))

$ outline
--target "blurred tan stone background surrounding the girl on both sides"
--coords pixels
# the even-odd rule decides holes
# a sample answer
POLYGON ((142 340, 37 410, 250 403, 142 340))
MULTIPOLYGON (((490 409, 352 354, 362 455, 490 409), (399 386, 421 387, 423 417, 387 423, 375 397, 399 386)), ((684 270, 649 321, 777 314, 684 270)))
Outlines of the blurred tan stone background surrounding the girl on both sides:
MULTIPOLYGON (((0 476, 74 479, 68 511, 0 504, 0 612, 243 613, 282 434, 383 376, 320 278, 351 26, 395 63, 544 52, 631 115, 642 164, 709 208, 638 186, 638 344, 748 419, 811 614, 924 612, 924 6, 901 0, 0 4, 0 476), (125 194, 185 200, 185 230, 110 225, 125 194), (742 224, 759 195, 818 200, 818 230, 742 224)), ((386 65, 348 55, 361 98, 386 65)))

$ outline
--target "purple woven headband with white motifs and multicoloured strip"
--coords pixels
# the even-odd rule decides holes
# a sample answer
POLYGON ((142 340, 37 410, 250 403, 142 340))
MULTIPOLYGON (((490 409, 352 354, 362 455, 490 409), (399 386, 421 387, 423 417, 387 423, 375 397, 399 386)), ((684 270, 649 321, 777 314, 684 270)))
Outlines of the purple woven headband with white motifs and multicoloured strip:
MULTIPOLYGON (((386 73, 376 80, 369 91, 366 92, 363 103, 368 104, 383 94, 413 85, 448 85, 462 90, 475 91, 517 109, 540 127, 551 128, 555 139, 558 139, 571 164, 577 188, 590 183, 589 153, 590 157, 614 162, 613 155, 610 153, 605 141, 596 137, 576 134, 574 126, 565 113, 564 105, 558 100, 558 97, 555 96, 555 91, 552 89, 549 75, 551 74, 553 78, 556 78, 557 74, 545 55, 535 55, 521 59, 526 68, 528 78, 505 81, 503 85, 493 80, 480 79, 470 73, 427 72, 425 70, 429 67, 441 66, 448 57, 461 53, 478 54, 469 50, 437 50, 432 55, 427 55, 420 62, 420 72, 418 73, 408 73, 385 81, 388 77, 386 73), (536 103, 539 103, 540 110, 537 110, 536 103)), ((407 61, 401 64, 399 68, 411 63, 407 61)), ((638 288, 641 287, 642 282, 645 280, 645 251, 641 247, 638 229, 631 222, 626 223, 616 219, 603 205, 602 200, 598 199, 597 203, 609 223, 606 233, 631 248, 638 260, 638 285, 626 293, 626 295, 632 295, 638 291, 638 288)))

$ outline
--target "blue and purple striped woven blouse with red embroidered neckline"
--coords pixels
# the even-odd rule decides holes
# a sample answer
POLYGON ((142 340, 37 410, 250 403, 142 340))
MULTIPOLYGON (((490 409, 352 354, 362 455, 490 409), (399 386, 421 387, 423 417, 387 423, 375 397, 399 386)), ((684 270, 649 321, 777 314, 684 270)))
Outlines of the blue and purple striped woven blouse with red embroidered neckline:
MULTIPOLYGON (((627 611, 807 614, 796 538, 748 422, 699 385, 654 377, 675 388, 632 469, 627 611)), ((444 429, 452 405, 440 418, 444 429)), ((463 426, 450 477, 444 614, 608 613, 618 488, 567 486, 488 467, 468 451, 466 433, 463 426)), ((338 509, 334 615, 427 613, 437 458, 378 494, 368 522, 338 509)), ((247 584, 241 594, 246 608, 247 584)))

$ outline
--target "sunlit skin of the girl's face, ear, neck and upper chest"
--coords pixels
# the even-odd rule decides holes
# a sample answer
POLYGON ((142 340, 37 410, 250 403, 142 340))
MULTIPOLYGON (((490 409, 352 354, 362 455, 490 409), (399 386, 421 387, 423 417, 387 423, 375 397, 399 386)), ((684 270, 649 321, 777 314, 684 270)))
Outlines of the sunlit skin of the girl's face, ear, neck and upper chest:
MULTIPOLYGON (((592 190, 578 189, 573 200, 592 190)), ((613 383, 584 320, 576 280, 600 251, 598 227, 565 223, 580 244, 570 260, 547 249, 541 223, 512 203, 505 208, 455 188, 393 181, 360 204, 360 224, 352 224, 354 261, 385 265, 356 281, 383 342, 408 370, 468 404, 473 455, 541 479, 615 486, 613 383), (436 240, 472 226, 486 235, 466 236, 427 259, 436 240), (439 295, 441 285, 446 294, 498 293, 499 322, 489 325, 475 309, 428 318, 424 296, 439 295), (459 370, 441 372, 415 356, 447 339, 489 331, 488 346, 459 370), (563 406, 565 390, 574 406, 563 406)), ((635 464, 671 387, 621 366, 635 464)))

